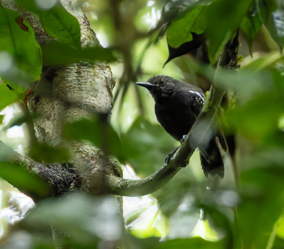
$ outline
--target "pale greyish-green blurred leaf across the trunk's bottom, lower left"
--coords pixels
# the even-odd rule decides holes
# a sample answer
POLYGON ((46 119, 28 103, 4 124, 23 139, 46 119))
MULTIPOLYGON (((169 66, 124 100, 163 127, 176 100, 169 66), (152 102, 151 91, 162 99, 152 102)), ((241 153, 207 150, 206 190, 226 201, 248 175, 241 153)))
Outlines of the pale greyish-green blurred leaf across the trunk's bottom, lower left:
POLYGON ((73 192, 37 203, 24 222, 37 233, 50 232, 50 226, 62 229, 70 235, 71 242, 81 243, 82 248, 96 248, 99 239, 118 241, 124 233, 116 205, 109 196, 73 192))

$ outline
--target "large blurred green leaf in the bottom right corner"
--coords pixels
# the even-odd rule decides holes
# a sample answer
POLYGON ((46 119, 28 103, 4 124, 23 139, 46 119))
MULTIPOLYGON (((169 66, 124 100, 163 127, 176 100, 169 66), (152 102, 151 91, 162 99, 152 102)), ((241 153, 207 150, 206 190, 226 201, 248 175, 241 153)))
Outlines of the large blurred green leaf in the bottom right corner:
POLYGON ((263 166, 241 173, 239 228, 245 244, 255 248, 266 247, 284 205, 284 168, 263 166))

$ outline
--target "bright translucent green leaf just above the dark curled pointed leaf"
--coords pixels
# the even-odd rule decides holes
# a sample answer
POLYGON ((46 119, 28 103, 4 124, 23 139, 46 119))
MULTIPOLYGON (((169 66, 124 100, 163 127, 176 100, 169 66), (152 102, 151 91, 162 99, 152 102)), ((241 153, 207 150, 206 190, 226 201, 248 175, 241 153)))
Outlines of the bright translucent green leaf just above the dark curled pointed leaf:
POLYGON ((171 47, 177 48, 185 42, 192 41, 191 32, 202 34, 205 30, 204 12, 205 6, 197 6, 183 18, 172 22, 167 30, 167 41, 171 47))

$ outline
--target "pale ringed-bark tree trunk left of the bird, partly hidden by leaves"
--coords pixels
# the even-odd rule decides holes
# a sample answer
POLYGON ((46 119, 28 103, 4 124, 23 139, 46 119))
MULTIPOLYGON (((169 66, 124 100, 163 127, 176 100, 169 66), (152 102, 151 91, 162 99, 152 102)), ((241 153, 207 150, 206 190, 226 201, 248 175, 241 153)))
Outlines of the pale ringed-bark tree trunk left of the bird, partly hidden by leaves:
MULTIPOLYGON (((82 48, 99 46, 95 32, 89 27, 89 21, 78 3, 74 0, 62 0, 61 4, 80 24, 82 48)), ((39 45, 54 40, 45 33, 36 15, 19 10, 11 0, 2 0, 2 5, 23 13, 24 19, 35 31, 39 45)), ((40 80, 27 96, 27 106, 38 142, 68 148, 72 155, 72 170, 74 169, 77 178, 80 178, 75 179, 72 174, 69 178, 70 164, 67 167, 66 164, 65 167, 59 164, 52 167, 49 165, 49 169, 55 174, 48 173, 44 163, 34 165, 37 167, 37 174, 53 184, 53 195, 60 195, 70 189, 100 193, 104 173, 122 177, 120 164, 103 156, 92 144, 82 141, 70 142, 62 137, 62 127, 66 123, 82 118, 91 119, 94 114, 109 115, 114 84, 110 67, 104 62, 44 66, 40 80), (60 176, 60 179, 64 176, 64 181, 57 179, 57 176, 60 176)), ((17 160, 20 162, 21 158, 17 160)), ((122 215, 122 197, 113 195, 113 198, 117 203, 118 212, 122 215)))

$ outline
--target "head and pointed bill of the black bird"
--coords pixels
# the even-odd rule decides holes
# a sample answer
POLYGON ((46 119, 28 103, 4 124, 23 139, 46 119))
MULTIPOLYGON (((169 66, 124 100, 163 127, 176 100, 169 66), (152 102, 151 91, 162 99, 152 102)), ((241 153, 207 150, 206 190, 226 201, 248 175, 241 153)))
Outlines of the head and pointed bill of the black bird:
POLYGON ((147 88, 156 100, 160 97, 172 95, 176 87, 175 81, 177 80, 170 76, 157 75, 150 78, 147 82, 136 82, 136 85, 147 88))

